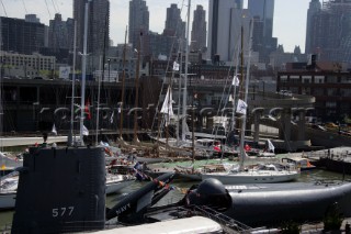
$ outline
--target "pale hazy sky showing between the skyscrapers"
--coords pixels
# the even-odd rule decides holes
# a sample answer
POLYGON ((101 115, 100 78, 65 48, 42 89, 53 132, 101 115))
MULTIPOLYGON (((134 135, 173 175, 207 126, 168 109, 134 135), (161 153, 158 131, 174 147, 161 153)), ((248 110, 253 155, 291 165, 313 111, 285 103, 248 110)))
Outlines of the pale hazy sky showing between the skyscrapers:
MULTIPOLYGON (((60 13, 63 20, 72 18, 72 2, 73 0, 0 0, 0 15, 24 19, 25 14, 36 14, 41 23, 48 25, 55 13, 60 13)), ((110 0, 110 37, 116 45, 124 43, 125 29, 128 24, 129 0, 110 0)), ((185 21, 188 0, 146 0, 152 32, 162 33, 166 9, 171 3, 177 3, 180 9, 183 8, 182 19, 185 21)), ((202 4, 208 13, 208 0, 191 0, 191 22, 196 4, 202 4)), ((293 52, 296 45, 302 52, 305 51, 308 4, 309 0, 275 0, 273 36, 278 37, 278 44, 283 44, 285 52, 293 52)), ((247 7, 246 0, 244 7, 247 7)))

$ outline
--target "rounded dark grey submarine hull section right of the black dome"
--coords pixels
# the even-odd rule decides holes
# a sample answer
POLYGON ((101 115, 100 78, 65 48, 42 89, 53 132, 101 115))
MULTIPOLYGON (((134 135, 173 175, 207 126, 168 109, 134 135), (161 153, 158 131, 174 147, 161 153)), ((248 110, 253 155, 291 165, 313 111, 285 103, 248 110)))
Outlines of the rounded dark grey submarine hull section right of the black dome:
POLYGON ((351 216, 351 183, 267 185, 231 189, 229 194, 233 207, 225 214, 251 226, 321 221, 335 205, 340 214, 351 216))

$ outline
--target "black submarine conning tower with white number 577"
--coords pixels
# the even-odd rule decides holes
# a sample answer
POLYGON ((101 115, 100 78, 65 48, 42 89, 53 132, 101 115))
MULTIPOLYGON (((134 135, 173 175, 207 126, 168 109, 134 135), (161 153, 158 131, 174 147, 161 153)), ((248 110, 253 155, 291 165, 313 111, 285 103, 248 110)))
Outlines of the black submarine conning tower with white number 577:
POLYGON ((11 233, 72 233, 104 225, 103 148, 31 147, 24 154, 11 233))

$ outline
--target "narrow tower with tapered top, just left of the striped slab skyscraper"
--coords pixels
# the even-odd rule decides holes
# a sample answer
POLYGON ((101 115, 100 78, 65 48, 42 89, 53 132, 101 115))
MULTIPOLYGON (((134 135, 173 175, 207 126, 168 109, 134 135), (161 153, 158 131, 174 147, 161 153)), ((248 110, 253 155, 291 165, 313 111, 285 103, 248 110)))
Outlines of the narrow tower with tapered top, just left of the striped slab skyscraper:
POLYGON ((191 31, 191 51, 203 51, 206 47, 206 11, 202 5, 197 4, 191 31))

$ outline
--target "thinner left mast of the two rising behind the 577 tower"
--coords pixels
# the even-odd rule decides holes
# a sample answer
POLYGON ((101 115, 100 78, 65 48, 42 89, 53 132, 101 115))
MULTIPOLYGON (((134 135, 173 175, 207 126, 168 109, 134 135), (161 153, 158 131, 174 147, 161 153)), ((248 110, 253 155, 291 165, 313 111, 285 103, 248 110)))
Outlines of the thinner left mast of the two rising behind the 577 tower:
POLYGON ((73 35, 73 67, 72 67, 72 99, 70 104, 70 131, 68 135, 68 145, 73 145, 73 129, 75 129, 75 87, 76 87, 76 56, 77 56, 77 21, 75 21, 75 35, 73 35))

